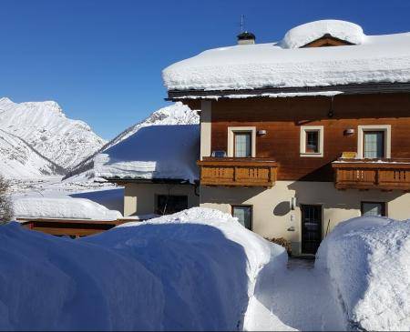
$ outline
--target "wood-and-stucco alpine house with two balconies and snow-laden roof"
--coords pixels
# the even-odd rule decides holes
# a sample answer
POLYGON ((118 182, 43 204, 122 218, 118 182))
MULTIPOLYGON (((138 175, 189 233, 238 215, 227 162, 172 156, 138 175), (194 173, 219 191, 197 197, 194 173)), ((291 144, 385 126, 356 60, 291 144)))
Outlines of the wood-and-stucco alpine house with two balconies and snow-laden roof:
POLYGON ((200 206, 314 254, 354 216, 410 216, 410 33, 323 20, 170 65, 200 109, 200 206), (408 158, 408 159, 407 159, 408 158))

